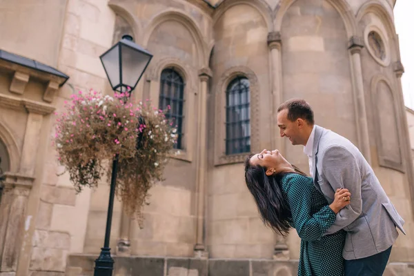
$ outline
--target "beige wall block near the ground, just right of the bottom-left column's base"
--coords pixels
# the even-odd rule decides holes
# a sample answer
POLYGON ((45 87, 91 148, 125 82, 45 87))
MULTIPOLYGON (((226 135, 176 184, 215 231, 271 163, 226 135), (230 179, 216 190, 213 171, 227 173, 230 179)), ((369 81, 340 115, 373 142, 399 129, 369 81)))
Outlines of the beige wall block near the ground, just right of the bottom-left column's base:
POLYGON ((67 250, 62 249, 34 247, 30 258, 30 270, 64 272, 67 253, 67 250))

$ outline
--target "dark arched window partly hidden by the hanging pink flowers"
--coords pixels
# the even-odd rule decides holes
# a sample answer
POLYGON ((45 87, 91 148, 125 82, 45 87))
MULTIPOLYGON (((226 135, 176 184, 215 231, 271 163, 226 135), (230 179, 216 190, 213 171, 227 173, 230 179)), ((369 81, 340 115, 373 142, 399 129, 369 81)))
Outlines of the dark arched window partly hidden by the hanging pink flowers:
POLYGON ((177 144, 175 148, 183 148, 183 106, 184 106, 184 81, 183 78, 172 68, 161 72, 161 86, 159 88, 159 109, 171 107, 166 112, 166 117, 172 119, 177 125, 177 144))

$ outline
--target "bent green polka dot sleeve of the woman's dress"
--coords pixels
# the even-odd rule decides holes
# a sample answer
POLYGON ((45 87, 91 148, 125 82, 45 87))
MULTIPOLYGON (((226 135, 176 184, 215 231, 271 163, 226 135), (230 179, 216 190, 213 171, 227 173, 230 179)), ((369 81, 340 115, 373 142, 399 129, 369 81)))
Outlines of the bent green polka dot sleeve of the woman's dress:
POLYGON ((329 206, 311 215, 313 197, 307 181, 302 175, 292 175, 288 177, 284 190, 297 234, 304 241, 316 241, 333 225, 336 215, 329 206))

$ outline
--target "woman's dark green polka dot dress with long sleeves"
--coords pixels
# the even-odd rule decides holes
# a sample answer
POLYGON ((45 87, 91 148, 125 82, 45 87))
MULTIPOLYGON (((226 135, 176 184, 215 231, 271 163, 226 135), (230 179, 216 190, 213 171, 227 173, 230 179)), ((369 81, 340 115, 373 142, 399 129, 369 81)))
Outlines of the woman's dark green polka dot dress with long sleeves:
POLYGON ((346 233, 323 234, 335 222, 335 213, 311 177, 289 173, 282 177, 282 190, 292 213, 291 226, 301 238, 299 276, 344 275, 346 233))

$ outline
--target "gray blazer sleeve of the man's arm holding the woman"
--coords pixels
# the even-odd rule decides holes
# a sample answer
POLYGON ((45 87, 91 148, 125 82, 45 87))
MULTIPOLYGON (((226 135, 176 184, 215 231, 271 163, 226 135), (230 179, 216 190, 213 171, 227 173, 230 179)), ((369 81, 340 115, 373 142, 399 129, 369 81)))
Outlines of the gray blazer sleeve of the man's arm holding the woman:
POLYGON ((322 157, 322 172, 333 190, 347 188, 351 204, 337 213, 335 224, 325 235, 333 234, 351 224, 362 213, 361 174, 355 156, 342 146, 328 148, 322 157))

